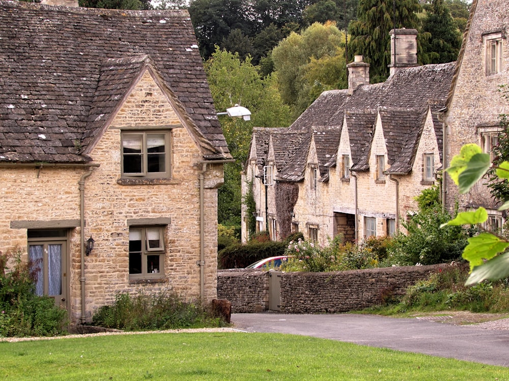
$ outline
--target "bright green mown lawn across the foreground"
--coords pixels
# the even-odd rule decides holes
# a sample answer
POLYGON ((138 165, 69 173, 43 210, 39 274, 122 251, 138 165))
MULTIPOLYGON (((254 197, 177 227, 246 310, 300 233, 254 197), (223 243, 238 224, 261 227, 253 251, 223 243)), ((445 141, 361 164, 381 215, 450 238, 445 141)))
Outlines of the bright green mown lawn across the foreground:
POLYGON ((150 333, 0 342, 16 380, 509 380, 509 368, 305 336, 150 333))

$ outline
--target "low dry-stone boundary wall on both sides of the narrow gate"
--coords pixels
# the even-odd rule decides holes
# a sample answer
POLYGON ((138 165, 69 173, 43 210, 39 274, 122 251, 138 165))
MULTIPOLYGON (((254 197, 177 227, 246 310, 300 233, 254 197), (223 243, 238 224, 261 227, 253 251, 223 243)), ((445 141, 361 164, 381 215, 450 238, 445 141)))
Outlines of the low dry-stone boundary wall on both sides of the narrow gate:
MULTIPOLYGON (((375 305, 383 297, 404 295, 434 266, 403 266, 335 272, 287 272, 281 276, 281 312, 346 312, 375 305)), ((268 271, 221 271, 217 297, 232 302, 232 312, 252 313, 269 307, 268 271)))

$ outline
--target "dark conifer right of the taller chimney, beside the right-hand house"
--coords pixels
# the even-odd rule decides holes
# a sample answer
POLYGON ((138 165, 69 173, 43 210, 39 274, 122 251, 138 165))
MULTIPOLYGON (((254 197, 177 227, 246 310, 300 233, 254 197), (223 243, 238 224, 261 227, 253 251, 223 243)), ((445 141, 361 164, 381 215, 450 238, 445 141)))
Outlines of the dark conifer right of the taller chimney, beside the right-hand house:
POLYGON ((430 38, 422 43, 423 63, 447 63, 455 61, 461 48, 462 37, 444 0, 433 0, 427 6, 428 12, 422 22, 422 31, 430 34, 430 38))

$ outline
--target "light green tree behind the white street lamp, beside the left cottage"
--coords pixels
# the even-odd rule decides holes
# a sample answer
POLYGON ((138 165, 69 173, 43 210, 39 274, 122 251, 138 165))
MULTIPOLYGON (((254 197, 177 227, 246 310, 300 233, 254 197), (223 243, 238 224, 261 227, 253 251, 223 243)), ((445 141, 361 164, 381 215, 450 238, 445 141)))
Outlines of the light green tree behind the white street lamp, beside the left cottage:
POLYGON ((262 79, 249 56, 241 60, 238 53, 216 46, 211 58, 205 62, 205 71, 217 110, 241 104, 252 113, 251 121, 219 117, 224 138, 236 162, 224 166, 224 185, 218 191, 217 218, 220 224, 240 229, 240 171, 247 158, 252 126, 286 127, 292 122, 290 110, 282 104, 273 77, 269 75, 262 79))

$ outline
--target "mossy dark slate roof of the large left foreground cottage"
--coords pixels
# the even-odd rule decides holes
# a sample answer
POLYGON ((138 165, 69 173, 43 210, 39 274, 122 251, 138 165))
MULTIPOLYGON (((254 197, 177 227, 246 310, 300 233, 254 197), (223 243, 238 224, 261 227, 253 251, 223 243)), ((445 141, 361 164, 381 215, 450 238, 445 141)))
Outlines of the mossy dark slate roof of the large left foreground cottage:
POLYGON ((0 0, 0 161, 86 163, 142 70, 176 99, 204 158, 230 158, 187 11, 0 0))

